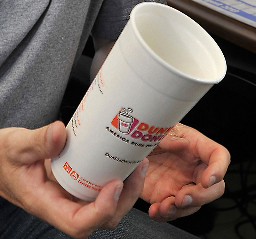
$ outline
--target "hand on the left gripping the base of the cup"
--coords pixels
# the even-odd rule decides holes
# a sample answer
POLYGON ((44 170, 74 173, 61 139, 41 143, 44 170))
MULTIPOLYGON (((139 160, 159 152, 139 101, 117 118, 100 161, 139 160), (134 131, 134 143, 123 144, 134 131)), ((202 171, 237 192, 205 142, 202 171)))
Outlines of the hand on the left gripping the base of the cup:
POLYGON ((97 228, 113 228, 139 197, 148 160, 125 180, 109 182, 95 202, 68 194, 50 180, 44 162, 63 149, 67 133, 61 122, 28 130, 0 130, 0 195, 65 233, 85 238, 97 228))

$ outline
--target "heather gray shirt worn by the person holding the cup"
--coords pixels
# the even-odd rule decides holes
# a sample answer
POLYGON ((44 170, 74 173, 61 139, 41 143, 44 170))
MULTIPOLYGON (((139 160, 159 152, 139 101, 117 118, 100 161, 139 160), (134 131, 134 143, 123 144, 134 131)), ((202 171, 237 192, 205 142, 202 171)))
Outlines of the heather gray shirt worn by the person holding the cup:
POLYGON ((88 36, 116 39, 143 1, 0 1, 0 128, 56 120, 88 36))

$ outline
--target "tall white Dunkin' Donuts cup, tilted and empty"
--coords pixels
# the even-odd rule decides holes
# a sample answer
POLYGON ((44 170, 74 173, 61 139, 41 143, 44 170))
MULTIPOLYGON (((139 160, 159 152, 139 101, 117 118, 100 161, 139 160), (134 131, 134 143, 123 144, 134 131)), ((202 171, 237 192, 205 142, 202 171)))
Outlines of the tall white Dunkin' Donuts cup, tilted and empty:
POLYGON ((225 74, 220 48, 195 21, 164 4, 138 4, 68 123, 66 146, 52 159, 55 178, 95 200, 225 74))

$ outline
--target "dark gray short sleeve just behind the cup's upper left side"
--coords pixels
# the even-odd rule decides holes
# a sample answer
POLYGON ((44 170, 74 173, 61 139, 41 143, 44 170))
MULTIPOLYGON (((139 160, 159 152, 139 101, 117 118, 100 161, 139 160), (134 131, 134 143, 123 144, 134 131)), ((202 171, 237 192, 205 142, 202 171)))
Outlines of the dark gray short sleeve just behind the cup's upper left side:
POLYGON ((104 0, 92 29, 94 37, 116 40, 129 19, 132 8, 141 2, 166 0, 104 0))

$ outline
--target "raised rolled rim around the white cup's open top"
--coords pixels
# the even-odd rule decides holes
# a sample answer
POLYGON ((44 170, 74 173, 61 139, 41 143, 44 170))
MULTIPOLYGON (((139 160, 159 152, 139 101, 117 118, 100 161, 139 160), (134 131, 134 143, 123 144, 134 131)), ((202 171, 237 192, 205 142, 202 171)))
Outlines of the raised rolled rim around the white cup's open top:
POLYGON ((218 46, 218 44, 215 42, 215 40, 208 34, 208 32, 206 32, 206 30, 204 28, 202 28, 196 21, 194 21, 193 19, 191 19, 190 17, 188 17, 186 14, 178 11, 175 8, 172 8, 166 4, 161 4, 161 3, 156 3, 156 2, 143 2, 140 4, 137 4, 131 11, 130 14, 130 21, 132 24, 132 28, 134 30, 135 36, 137 37, 137 39, 139 40, 140 44, 146 49, 146 51, 157 61, 159 62, 164 68, 171 70, 174 74, 181 76, 182 78, 186 78, 187 80, 193 81, 193 82, 198 82, 198 83, 203 83, 203 84, 216 84, 219 83, 224 76, 226 75, 227 72, 227 64, 226 64, 226 59, 223 55, 223 52, 221 51, 220 47, 218 46), (214 77, 212 79, 205 79, 205 78, 200 78, 200 77, 195 77, 192 75, 189 75, 185 72, 182 72, 180 70, 178 70, 177 68, 173 67, 171 64, 169 64, 168 62, 166 62, 164 59, 162 59, 158 54, 156 54, 151 47, 146 43, 146 41, 143 39, 143 37, 140 34, 139 29, 136 26, 136 18, 133 17, 133 15, 135 15, 140 8, 146 7, 146 5, 153 5, 154 7, 158 6, 158 7, 162 7, 162 8, 169 8, 170 12, 174 11, 174 12, 178 12, 181 16, 183 16, 184 19, 187 19, 190 22, 193 22, 193 24, 197 25, 198 28, 201 28, 201 30, 205 33, 206 36, 209 37, 209 39, 212 40, 213 44, 215 44, 217 46, 217 49, 219 50, 220 56, 222 57, 223 60, 223 65, 224 65, 224 69, 223 69, 223 73, 219 74, 218 77, 214 77))

